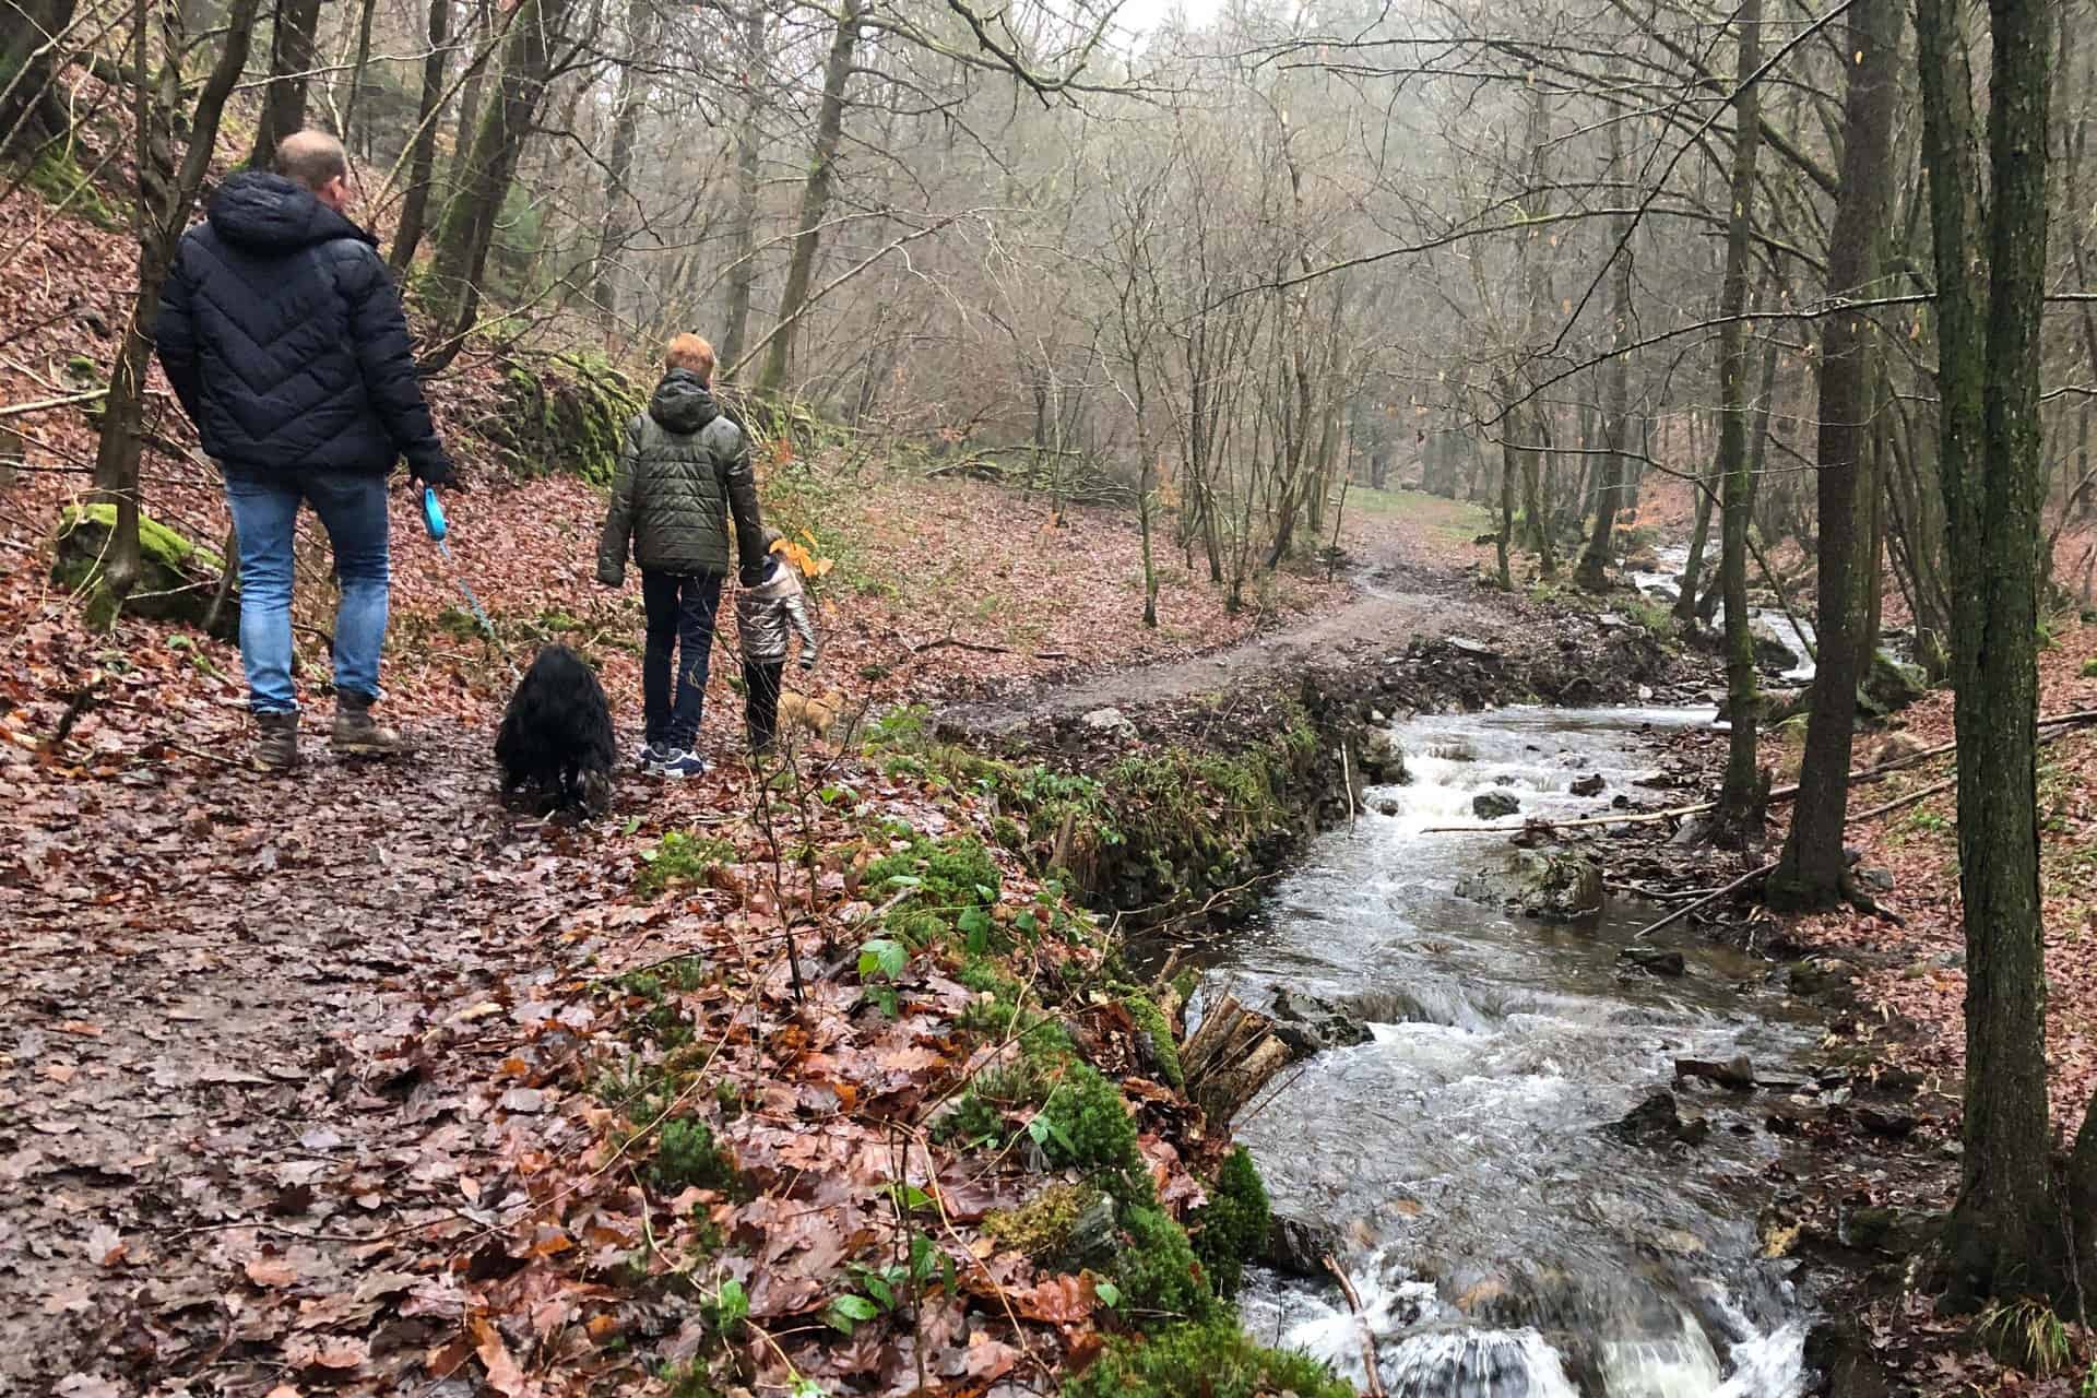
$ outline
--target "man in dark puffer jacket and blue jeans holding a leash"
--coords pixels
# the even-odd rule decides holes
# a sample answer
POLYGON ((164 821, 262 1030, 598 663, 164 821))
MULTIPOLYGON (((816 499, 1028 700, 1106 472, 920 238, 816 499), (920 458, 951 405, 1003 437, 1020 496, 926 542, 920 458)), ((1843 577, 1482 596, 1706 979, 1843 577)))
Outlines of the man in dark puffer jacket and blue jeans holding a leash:
POLYGON ((182 235, 161 291, 159 363, 203 451, 226 474, 241 553, 241 662, 256 765, 298 761, 291 687, 291 539, 300 503, 327 528, 342 583, 336 612, 338 752, 390 755, 371 719, 386 639, 386 476, 451 486, 415 377, 401 296, 375 239, 344 216, 342 143, 300 132, 277 170, 226 180, 182 235))

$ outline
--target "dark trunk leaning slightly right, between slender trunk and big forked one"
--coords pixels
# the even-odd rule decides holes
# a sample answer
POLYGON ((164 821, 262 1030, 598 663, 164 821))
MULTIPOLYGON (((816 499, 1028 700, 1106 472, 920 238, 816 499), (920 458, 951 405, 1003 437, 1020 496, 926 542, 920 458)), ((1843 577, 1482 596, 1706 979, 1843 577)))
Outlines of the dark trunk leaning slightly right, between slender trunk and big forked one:
MULTIPOLYGON (((1896 0, 1852 0, 1850 94, 1843 113, 1841 197, 1829 233, 1829 293, 1862 300, 1879 277, 1879 239, 1894 195, 1894 103, 1900 82, 1896 0)), ((1791 807, 1785 853, 1764 884, 1778 910, 1833 908, 1843 895, 1843 826, 1850 820, 1850 748, 1856 685, 1868 652, 1871 518, 1877 478, 1871 449, 1877 392, 1873 321, 1864 312, 1826 321, 1820 350, 1818 543, 1820 599, 1814 618, 1814 694, 1806 763, 1791 807), (1864 509, 1860 528, 1858 505, 1864 509)))

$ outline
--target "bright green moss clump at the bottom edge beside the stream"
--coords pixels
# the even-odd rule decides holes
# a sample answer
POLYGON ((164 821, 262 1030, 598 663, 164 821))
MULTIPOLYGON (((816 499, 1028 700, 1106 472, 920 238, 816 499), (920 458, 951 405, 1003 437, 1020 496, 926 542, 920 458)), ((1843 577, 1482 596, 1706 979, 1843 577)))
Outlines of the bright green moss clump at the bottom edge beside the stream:
POLYGON ((1107 1341, 1063 1398, 1355 1398, 1355 1385, 1306 1354, 1267 1350, 1229 1320, 1174 1325, 1107 1341))

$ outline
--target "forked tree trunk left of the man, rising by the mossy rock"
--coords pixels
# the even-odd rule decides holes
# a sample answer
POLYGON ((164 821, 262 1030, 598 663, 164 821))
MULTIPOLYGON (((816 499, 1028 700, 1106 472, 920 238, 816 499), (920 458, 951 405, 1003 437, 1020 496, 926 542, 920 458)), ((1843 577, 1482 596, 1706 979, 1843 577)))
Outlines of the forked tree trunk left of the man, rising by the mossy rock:
MULTIPOLYGON (((138 6, 140 19, 145 6, 138 6)), ((138 455, 143 451, 145 423, 145 371, 153 356, 153 321, 159 314, 159 289, 168 281, 176 243, 189 222, 189 210, 203 189, 203 176, 212 163, 212 147, 218 143, 218 122, 226 109, 226 96, 247 65, 247 36, 254 27, 256 0, 233 0, 226 17, 226 46, 212 67, 210 80, 197 94, 191 111, 189 149, 172 180, 143 180, 138 191, 138 293, 132 300, 130 321, 124 327, 124 344, 109 371, 109 394, 103 400, 103 434, 94 451, 94 495, 115 505, 115 537, 109 543, 109 558, 103 564, 103 581, 109 593, 124 602, 138 583, 138 455)), ((145 71, 147 34, 138 29, 138 71, 145 71)), ((138 168, 149 166, 149 153, 168 132, 182 99, 182 69, 178 57, 182 46, 176 36, 164 34, 159 73, 149 92, 138 94, 136 140, 138 168)))

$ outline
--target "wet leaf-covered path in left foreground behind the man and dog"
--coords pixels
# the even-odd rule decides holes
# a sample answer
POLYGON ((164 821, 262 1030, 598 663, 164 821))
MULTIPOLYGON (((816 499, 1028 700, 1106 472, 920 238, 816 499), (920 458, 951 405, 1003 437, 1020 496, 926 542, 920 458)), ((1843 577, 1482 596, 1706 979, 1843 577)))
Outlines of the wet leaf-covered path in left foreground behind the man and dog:
POLYGON ((596 861, 503 820, 482 734, 417 738, 413 765, 315 744, 262 780, 199 748, 23 792, 0 1392, 260 1394, 268 1371, 218 1356, 275 1339, 346 1371, 361 1356, 304 1354, 300 1327, 394 1306, 434 1335, 457 1289, 419 1264, 495 1220, 476 1180, 581 1144, 497 1063, 549 1044, 531 983, 596 861))

